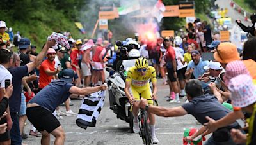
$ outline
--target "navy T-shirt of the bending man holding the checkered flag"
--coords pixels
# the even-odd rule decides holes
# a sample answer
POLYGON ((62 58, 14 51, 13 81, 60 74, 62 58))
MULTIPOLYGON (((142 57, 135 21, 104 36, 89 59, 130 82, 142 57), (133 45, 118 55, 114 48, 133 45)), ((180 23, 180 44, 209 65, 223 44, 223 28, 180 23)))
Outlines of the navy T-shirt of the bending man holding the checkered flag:
POLYGON ((74 85, 68 81, 53 81, 36 93, 29 103, 36 103, 53 113, 56 107, 68 99, 72 86, 74 85))

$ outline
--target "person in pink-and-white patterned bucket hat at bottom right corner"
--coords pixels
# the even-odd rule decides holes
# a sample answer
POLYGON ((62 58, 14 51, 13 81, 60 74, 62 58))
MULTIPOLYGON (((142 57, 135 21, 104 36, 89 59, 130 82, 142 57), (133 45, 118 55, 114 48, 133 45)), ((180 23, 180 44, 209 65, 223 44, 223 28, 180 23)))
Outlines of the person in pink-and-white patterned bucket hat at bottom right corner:
POLYGON ((248 134, 241 130, 232 129, 231 135, 236 143, 255 144, 256 141, 256 86, 252 77, 248 74, 241 74, 230 79, 228 88, 231 92, 231 100, 234 107, 241 107, 246 113, 252 114, 248 121, 248 134))

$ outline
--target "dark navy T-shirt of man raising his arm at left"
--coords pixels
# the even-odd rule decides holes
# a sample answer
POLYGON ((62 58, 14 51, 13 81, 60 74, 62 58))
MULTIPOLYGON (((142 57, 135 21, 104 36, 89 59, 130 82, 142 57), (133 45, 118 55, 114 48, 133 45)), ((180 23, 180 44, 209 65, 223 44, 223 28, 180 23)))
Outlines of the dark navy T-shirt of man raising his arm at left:
POLYGON ((12 74, 12 85, 13 85, 13 92, 11 97, 9 98, 9 106, 10 112, 19 112, 20 111, 20 104, 21 104, 21 80, 24 76, 28 75, 28 67, 20 66, 20 67, 11 67, 8 69, 12 74))

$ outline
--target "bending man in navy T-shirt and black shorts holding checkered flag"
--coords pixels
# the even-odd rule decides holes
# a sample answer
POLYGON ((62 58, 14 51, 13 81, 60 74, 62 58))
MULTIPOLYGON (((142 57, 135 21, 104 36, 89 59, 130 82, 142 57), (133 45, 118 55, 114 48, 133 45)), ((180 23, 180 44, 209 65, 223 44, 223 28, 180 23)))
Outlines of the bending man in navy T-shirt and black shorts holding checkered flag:
POLYGON ((28 102, 26 110, 28 120, 42 133, 41 144, 50 144, 50 134, 56 138, 54 144, 64 144, 65 132, 52 113, 72 93, 89 95, 100 90, 106 90, 106 85, 78 88, 72 84, 73 81, 74 71, 65 69, 59 81, 53 81, 45 86, 28 102))

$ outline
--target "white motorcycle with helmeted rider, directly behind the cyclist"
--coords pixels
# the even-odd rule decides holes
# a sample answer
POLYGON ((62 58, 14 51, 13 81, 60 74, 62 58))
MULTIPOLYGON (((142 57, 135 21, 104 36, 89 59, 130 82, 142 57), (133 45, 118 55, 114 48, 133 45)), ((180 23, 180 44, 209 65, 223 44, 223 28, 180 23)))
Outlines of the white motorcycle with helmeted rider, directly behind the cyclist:
POLYGON ((118 119, 129 123, 132 132, 133 115, 132 112, 129 111, 131 104, 125 95, 124 88, 127 71, 130 67, 135 65, 135 61, 138 57, 140 57, 140 51, 133 49, 128 53, 127 60, 118 60, 116 65, 107 64, 106 68, 106 71, 111 72, 106 80, 108 84, 110 109, 113 110, 118 119))

